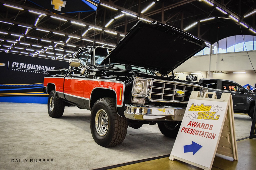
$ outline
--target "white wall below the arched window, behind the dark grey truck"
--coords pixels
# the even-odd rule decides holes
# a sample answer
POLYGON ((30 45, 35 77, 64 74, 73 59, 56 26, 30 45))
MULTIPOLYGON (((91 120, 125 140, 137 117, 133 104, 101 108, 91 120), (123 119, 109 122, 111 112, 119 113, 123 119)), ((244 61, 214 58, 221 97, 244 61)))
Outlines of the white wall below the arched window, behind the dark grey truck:
MULTIPOLYGON (((256 69, 256 51, 248 51, 252 65, 256 69)), ((222 71, 227 74, 213 74, 214 79, 232 80, 240 85, 250 84, 254 86, 256 83, 256 74, 253 71, 249 61, 247 52, 211 54, 210 71, 222 71), (221 60, 223 59, 223 60, 221 60), (232 72, 246 71, 246 74, 232 74, 232 72)), ((175 74, 180 80, 186 80, 185 74, 191 72, 201 72, 198 74, 198 80, 201 78, 209 78, 209 55, 194 56, 188 59, 185 63, 177 67, 174 72, 183 72, 184 74, 175 74)))

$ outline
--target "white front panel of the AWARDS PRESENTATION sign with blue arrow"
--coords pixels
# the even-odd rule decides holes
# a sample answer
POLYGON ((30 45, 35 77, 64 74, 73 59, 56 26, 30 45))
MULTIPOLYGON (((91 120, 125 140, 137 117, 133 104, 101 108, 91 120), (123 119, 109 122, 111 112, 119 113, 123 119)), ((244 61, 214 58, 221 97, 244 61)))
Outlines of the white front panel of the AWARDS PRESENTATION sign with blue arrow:
POLYGON ((190 97, 170 155, 171 160, 175 156, 182 161, 198 164, 199 167, 211 168, 225 122, 228 101, 190 97))

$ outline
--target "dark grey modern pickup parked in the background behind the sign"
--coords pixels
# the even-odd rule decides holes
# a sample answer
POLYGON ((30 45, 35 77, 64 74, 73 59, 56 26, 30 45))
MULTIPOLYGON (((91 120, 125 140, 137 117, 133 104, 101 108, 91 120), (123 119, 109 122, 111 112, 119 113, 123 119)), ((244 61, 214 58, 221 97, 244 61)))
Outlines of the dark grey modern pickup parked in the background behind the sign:
POLYGON ((231 93, 234 113, 247 113, 251 118, 253 117, 256 93, 230 80, 200 79, 199 82, 206 83, 208 91, 216 92, 218 99, 222 93, 231 93))

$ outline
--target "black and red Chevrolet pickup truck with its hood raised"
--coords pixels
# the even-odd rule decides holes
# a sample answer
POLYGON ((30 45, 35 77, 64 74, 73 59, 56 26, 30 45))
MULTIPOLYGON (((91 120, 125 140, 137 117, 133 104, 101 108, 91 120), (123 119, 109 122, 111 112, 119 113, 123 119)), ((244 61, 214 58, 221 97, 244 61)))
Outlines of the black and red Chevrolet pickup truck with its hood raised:
POLYGON ((168 74, 205 46, 182 30, 139 21, 114 49, 84 47, 69 69, 48 71, 49 116, 59 118, 71 105, 91 110, 91 133, 103 147, 120 144, 128 126, 143 124, 157 123, 175 138, 191 92, 204 94, 207 85, 168 74))

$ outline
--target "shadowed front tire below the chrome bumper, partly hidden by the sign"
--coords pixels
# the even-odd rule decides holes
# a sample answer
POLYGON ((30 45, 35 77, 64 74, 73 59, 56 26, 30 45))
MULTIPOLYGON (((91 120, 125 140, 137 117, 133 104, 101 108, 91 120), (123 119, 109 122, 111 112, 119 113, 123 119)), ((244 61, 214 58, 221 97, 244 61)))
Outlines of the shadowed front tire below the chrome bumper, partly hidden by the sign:
POLYGON ((159 130, 164 136, 176 138, 179 132, 181 122, 157 123, 159 130))

